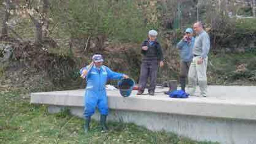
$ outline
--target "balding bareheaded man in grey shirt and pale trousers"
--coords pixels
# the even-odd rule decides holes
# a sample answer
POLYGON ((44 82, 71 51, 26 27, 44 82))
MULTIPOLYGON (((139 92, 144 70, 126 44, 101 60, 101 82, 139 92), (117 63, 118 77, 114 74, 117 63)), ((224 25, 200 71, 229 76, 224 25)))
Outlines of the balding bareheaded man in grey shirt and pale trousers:
POLYGON ((193 48, 193 60, 189 67, 189 86, 191 87, 190 95, 195 95, 196 82, 201 90, 201 96, 207 96, 207 61, 210 49, 210 38, 208 33, 203 29, 201 22, 196 22, 193 25, 193 29, 197 36, 195 38, 195 44, 193 48))

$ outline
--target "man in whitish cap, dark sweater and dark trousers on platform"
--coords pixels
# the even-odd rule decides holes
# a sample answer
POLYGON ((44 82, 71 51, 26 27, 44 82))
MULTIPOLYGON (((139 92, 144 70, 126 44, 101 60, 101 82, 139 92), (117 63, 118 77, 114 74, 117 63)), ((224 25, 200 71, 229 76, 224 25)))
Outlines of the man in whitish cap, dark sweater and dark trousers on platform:
POLYGON ((154 95, 157 85, 157 68, 158 65, 163 67, 163 53, 162 48, 157 41, 157 31, 150 30, 148 32, 148 39, 142 43, 141 53, 143 54, 143 58, 137 95, 143 94, 148 77, 150 78, 148 93, 149 95, 154 95))

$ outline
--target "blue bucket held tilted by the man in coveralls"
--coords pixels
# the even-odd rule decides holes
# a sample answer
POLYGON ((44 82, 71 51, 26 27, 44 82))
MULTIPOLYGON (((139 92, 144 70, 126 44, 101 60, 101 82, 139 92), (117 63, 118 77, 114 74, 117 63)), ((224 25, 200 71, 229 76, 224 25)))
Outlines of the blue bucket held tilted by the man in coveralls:
POLYGON ((118 86, 120 94, 123 97, 129 97, 131 95, 132 88, 134 87, 134 84, 135 84, 135 82, 131 78, 121 79, 120 81, 118 81, 117 86, 118 86))

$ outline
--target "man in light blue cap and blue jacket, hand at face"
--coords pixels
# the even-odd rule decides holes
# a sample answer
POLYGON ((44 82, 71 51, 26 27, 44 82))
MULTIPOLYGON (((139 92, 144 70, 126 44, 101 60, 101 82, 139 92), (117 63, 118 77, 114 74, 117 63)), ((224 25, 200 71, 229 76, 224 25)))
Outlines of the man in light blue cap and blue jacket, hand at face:
POLYGON ((181 89, 185 91, 186 87, 186 78, 189 72, 189 67, 193 59, 193 47, 195 43, 195 38, 193 37, 193 30, 187 28, 185 34, 177 44, 179 49, 179 55, 181 58, 180 62, 180 84, 181 89))

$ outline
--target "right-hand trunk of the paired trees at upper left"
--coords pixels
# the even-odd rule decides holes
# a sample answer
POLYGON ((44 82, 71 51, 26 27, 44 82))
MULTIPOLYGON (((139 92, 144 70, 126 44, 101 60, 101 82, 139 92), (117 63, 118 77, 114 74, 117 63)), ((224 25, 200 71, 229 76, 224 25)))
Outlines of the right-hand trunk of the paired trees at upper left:
POLYGON ((46 38, 49 32, 49 0, 43 0, 43 27, 42 27, 42 36, 46 38))

